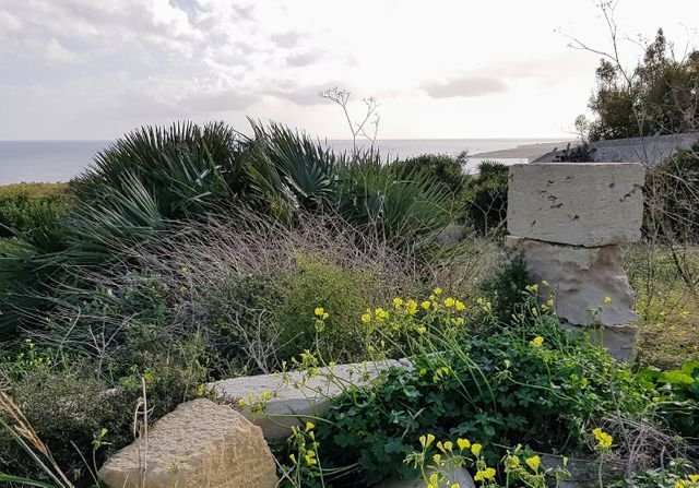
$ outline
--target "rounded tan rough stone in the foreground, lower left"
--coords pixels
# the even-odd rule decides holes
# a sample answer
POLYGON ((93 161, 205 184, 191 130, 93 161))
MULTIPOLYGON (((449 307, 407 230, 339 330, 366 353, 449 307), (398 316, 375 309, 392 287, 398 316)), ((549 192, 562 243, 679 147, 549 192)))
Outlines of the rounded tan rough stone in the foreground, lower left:
POLYGON ((122 449, 99 469, 110 488, 138 488, 145 466, 145 488, 273 488, 272 453, 259 427, 239 413, 209 400, 183 403, 122 449), (145 464, 144 463, 145 460, 145 464))

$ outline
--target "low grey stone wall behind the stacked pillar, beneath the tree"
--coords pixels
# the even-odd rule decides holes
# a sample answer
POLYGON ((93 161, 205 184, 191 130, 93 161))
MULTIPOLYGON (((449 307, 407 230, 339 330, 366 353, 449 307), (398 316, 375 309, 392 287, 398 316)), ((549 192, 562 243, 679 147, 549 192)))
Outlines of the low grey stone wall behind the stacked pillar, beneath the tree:
MULTIPOLYGON (((592 144, 596 148, 593 159, 594 162, 630 162, 655 166, 697 142, 699 142, 699 132, 599 141, 592 144)), ((562 154, 564 148, 559 147, 559 151, 545 154, 532 163, 552 163, 562 154)))

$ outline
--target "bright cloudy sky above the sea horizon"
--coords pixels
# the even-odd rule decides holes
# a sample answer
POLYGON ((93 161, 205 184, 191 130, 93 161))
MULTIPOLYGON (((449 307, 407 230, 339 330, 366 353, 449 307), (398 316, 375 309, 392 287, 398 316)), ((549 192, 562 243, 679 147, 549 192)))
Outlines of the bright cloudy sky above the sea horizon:
MULTIPOLYGON (((697 44, 697 0, 615 15, 631 39, 697 44)), ((568 36, 611 48, 594 0, 0 0, 0 140, 246 117, 348 139, 332 86, 352 119, 378 100, 379 139, 570 138, 600 57, 568 36)))

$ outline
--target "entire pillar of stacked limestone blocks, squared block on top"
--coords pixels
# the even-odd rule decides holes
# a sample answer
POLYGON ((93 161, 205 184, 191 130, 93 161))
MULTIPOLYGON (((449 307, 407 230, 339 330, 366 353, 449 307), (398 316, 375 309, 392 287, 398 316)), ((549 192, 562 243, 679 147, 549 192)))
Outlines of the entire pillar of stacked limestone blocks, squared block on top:
POLYGON ((540 298, 553 293, 565 324, 591 328, 626 361, 639 318, 619 246, 641 237, 643 179, 635 163, 514 165, 509 175, 507 245, 523 253, 540 298))

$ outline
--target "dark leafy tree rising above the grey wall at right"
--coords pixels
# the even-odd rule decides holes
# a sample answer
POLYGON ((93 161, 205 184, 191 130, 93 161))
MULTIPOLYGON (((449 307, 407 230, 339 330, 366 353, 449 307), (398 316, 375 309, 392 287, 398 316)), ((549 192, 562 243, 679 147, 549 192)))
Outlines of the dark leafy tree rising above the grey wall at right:
POLYGON ((676 60, 662 29, 645 46, 644 57, 633 71, 624 73, 603 59, 596 75, 597 87, 590 99, 590 108, 597 120, 592 123, 591 140, 697 129, 699 52, 676 60))

